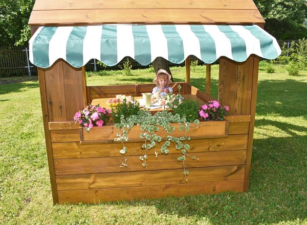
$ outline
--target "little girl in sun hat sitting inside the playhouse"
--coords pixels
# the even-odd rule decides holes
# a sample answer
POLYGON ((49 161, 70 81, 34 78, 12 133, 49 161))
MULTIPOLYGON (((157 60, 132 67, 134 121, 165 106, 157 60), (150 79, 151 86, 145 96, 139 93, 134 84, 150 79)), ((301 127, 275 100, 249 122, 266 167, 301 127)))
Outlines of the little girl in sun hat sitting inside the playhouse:
POLYGON ((159 92, 160 96, 165 96, 168 93, 172 93, 172 88, 168 87, 171 83, 171 76, 164 69, 160 69, 157 72, 156 78, 152 80, 153 83, 157 85, 157 87, 152 89, 152 93, 159 92))

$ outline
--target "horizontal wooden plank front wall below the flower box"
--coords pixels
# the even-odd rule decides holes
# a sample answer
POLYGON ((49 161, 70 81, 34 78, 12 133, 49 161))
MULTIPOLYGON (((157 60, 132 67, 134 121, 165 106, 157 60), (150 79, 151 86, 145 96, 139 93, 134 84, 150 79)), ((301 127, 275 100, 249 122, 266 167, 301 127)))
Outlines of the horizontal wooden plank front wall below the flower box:
MULTIPOLYGON (((80 144, 78 126, 71 122, 53 123, 50 134, 59 203, 243 191, 250 116, 229 119, 227 138, 189 142, 189 155, 199 160, 186 161, 188 182, 182 163, 177 160, 181 154, 174 147, 170 154, 157 159, 149 151, 146 170, 139 159, 143 154, 140 142, 127 142, 128 152, 123 156, 119 153, 120 143, 80 144), (128 167, 121 168, 125 159, 128 167), (152 193, 144 195, 149 190, 152 193)), ((159 147, 160 144, 158 153, 159 147)))

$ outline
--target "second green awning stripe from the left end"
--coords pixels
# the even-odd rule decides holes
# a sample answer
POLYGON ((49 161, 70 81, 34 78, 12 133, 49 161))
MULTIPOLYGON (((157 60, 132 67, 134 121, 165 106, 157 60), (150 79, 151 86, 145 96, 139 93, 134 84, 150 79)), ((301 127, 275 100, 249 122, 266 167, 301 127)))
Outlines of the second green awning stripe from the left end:
POLYGON ((70 33, 66 45, 66 61, 72 66, 83 65, 83 41, 87 26, 74 27, 70 33))

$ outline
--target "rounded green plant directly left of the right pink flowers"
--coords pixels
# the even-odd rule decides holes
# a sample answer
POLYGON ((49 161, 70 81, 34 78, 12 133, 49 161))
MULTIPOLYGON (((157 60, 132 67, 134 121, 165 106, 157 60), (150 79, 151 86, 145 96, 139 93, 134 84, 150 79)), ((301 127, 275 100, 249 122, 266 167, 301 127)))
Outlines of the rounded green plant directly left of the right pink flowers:
POLYGON ((185 117, 189 122, 193 122, 199 117, 198 102, 191 99, 183 99, 182 103, 177 107, 172 107, 173 114, 185 117))

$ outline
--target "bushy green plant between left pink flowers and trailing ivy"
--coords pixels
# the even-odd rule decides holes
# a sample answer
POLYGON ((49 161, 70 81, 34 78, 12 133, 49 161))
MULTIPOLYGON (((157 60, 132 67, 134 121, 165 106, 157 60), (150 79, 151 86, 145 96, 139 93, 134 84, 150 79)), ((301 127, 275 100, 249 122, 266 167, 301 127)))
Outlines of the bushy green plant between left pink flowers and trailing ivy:
POLYGON ((123 99, 123 104, 119 104, 116 107, 112 108, 112 117, 114 123, 119 123, 121 119, 128 118, 131 115, 137 115, 140 111, 140 104, 135 101, 135 98, 132 98, 131 102, 123 99))

